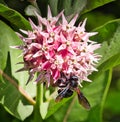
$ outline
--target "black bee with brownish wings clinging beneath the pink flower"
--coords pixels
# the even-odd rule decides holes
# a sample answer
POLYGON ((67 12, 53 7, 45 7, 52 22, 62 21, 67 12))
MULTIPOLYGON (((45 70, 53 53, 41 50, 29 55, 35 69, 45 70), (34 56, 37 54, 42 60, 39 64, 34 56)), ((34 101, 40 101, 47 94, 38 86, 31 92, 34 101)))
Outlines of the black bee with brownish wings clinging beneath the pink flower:
POLYGON ((58 96, 55 99, 56 102, 61 101, 63 98, 71 97, 73 95, 73 92, 75 91, 77 93, 79 103, 85 109, 90 109, 90 104, 87 98, 83 95, 83 93, 80 91, 78 87, 77 76, 71 75, 70 78, 67 78, 66 76, 61 77, 60 79, 58 79, 57 85, 59 89, 58 96))

